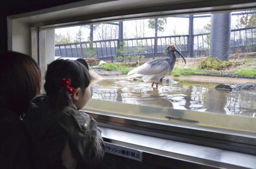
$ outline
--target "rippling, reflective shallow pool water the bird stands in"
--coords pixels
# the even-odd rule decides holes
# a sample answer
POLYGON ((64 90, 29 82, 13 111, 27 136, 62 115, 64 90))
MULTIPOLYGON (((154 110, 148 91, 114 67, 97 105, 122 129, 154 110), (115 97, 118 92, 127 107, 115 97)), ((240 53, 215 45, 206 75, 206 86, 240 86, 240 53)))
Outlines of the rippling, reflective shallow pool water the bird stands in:
POLYGON ((152 88, 150 83, 110 79, 94 80, 91 91, 92 99, 255 117, 255 91, 223 91, 216 85, 183 81, 152 88))

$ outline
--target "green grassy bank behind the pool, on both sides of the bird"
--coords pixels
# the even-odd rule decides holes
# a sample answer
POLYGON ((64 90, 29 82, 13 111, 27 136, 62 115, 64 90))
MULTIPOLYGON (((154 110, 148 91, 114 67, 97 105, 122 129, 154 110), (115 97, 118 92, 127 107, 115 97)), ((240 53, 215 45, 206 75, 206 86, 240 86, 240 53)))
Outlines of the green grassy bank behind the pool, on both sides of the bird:
MULTIPOLYGON (((184 69, 184 64, 177 62, 174 66, 171 76, 244 76, 249 78, 256 77, 256 58, 230 59, 221 61, 218 58, 204 58, 199 62, 189 62, 190 69, 184 69)), ((138 66, 136 62, 132 63, 107 63, 100 66, 105 70, 113 70, 127 74, 134 67, 138 66)), ((91 67, 90 67, 91 68, 91 67)))

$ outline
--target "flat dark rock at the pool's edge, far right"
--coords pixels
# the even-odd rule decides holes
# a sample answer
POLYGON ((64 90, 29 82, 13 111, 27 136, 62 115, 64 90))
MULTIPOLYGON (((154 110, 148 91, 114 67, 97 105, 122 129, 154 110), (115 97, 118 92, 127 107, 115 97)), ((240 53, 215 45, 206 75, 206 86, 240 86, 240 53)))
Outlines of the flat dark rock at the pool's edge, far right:
POLYGON ((236 85, 219 84, 215 87, 215 89, 230 90, 230 91, 256 90, 256 83, 248 82, 248 83, 236 84, 236 85))

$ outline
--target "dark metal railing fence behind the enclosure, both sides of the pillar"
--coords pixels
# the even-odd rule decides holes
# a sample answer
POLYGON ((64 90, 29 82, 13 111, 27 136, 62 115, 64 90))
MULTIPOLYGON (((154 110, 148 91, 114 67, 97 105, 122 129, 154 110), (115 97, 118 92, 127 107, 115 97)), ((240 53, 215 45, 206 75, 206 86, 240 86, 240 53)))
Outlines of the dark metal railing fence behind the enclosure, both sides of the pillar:
MULTIPOLYGON (((167 46, 175 44, 177 50, 182 55, 189 56, 189 51, 193 50, 194 55, 207 54, 210 49, 210 33, 194 34, 193 49, 188 48, 189 35, 160 36, 157 37, 155 47, 155 37, 124 39, 124 55, 144 55, 147 58, 163 56, 167 46)), ((93 41, 95 53, 93 58, 113 60, 114 56, 120 55, 118 52, 118 39, 93 41)), ((242 28, 231 30, 230 54, 242 52, 256 52, 253 45, 256 44, 256 28, 242 28)), ((58 44, 55 45, 55 56, 88 58, 90 52, 89 42, 58 44)))

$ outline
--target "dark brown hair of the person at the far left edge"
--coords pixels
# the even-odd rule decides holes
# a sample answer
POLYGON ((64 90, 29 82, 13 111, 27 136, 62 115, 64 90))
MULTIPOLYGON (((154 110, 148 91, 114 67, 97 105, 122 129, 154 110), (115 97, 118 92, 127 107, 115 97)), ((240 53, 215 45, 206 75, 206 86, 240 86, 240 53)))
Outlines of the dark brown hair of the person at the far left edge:
POLYGON ((0 102, 18 115, 40 93, 41 72, 33 58, 8 51, 0 55, 0 102))

